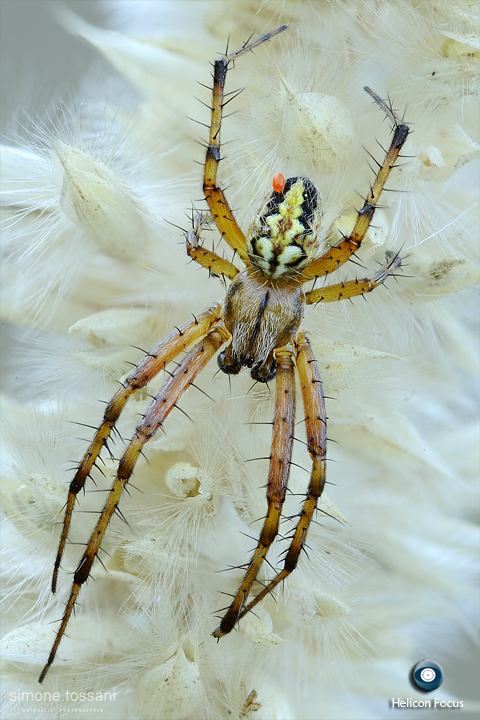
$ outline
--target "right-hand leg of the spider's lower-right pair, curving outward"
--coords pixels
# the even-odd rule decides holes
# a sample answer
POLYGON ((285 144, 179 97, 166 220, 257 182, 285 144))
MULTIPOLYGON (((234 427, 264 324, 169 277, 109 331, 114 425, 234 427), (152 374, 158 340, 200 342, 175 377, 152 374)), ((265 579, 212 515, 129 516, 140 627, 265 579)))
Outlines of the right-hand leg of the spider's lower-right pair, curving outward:
POLYGON ((305 545, 308 528, 317 507, 318 498, 321 496, 325 486, 327 416, 322 381, 317 361, 304 332, 298 334, 295 345, 297 350, 297 370, 302 386, 308 451, 313 462, 310 484, 300 512, 300 519, 285 557, 283 570, 251 602, 241 609, 237 617, 238 620, 252 610, 260 600, 263 600, 266 595, 295 570, 302 547, 305 545))

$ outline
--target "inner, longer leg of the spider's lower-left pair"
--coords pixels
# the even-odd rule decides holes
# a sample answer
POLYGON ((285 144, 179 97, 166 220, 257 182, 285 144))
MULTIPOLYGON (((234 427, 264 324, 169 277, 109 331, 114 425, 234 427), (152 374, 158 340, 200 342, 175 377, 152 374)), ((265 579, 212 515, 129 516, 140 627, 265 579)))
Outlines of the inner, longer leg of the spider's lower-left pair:
POLYGON ((170 378, 162 385, 152 404, 148 408, 141 422, 137 425, 133 438, 130 440, 123 457, 120 460, 117 476, 110 489, 105 506, 98 518, 95 529, 88 541, 85 552, 75 570, 73 576, 70 597, 65 607, 62 622, 57 632, 55 642, 43 668, 39 682, 42 683, 52 665, 60 641, 65 633, 68 621, 77 601, 80 588, 90 576, 93 562, 97 557, 103 536, 113 514, 115 513, 122 493, 127 486, 143 446, 151 440, 159 427, 163 425, 168 414, 178 402, 183 393, 195 380, 196 376, 203 370, 208 361, 215 355, 217 350, 230 338, 230 333, 219 324, 203 340, 201 340, 188 353, 178 367, 175 368, 170 378))

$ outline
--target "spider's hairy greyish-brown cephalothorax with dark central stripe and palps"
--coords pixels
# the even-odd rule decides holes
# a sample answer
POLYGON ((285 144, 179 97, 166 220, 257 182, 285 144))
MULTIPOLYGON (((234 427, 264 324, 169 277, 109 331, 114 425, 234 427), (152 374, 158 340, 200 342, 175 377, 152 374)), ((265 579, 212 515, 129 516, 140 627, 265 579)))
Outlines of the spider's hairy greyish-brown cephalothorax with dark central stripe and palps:
POLYGON ((273 351, 295 337, 304 308, 298 282, 269 281, 254 268, 239 273, 225 297, 224 321, 232 342, 218 357, 220 369, 236 375, 248 367, 254 380, 272 380, 273 351))

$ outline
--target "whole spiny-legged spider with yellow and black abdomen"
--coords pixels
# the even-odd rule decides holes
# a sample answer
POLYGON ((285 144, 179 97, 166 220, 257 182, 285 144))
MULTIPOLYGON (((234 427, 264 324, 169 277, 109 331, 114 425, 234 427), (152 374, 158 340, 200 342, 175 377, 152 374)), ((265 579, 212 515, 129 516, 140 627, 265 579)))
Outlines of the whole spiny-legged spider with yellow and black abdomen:
POLYGON ((186 356, 153 399, 120 459, 116 478, 108 493, 87 547, 75 570, 72 589, 52 650, 39 682, 43 682, 52 665, 59 643, 65 633, 82 585, 90 576, 103 537, 120 498, 127 486, 135 463, 145 444, 162 427, 172 408, 192 385, 197 375, 221 350, 217 362, 221 371, 238 374, 250 369, 255 381, 268 383, 275 379, 273 435, 267 483, 267 515, 244 577, 223 615, 215 638, 227 635, 255 605, 279 585, 295 569, 305 545, 317 501, 325 485, 327 417, 322 381, 307 333, 302 327, 306 305, 352 298, 382 285, 395 275, 402 260, 398 254, 387 254, 385 266, 372 277, 350 280, 304 292, 305 283, 326 277, 337 270, 360 248, 373 218, 385 182, 399 157, 409 128, 400 121, 392 106, 372 90, 365 88, 393 122, 393 138, 379 170, 348 236, 318 256, 322 208, 319 193, 306 177, 285 179, 277 174, 273 187, 256 214, 247 236, 240 229, 226 197, 217 184, 220 162, 220 129, 225 101, 227 70, 234 60, 275 35, 283 25, 256 40, 251 38, 238 50, 226 53, 214 63, 211 122, 207 145, 203 191, 210 214, 225 242, 244 263, 240 271, 233 264, 201 245, 200 230, 204 218, 196 215, 186 236, 188 255, 215 275, 232 282, 225 298, 198 317, 176 328, 139 362, 108 403, 95 437, 83 456, 70 484, 63 529, 52 578, 56 592, 70 522, 78 493, 84 488, 92 468, 127 402, 136 391, 144 388, 182 351, 186 356), (195 343, 195 344, 194 344, 195 343), (193 347, 191 347, 193 345, 193 347), (221 349, 223 346, 223 349, 221 349), (308 451, 312 472, 306 499, 285 555, 283 568, 255 597, 249 594, 268 550, 278 534, 285 501, 292 456, 295 422, 295 369, 298 373, 308 451))

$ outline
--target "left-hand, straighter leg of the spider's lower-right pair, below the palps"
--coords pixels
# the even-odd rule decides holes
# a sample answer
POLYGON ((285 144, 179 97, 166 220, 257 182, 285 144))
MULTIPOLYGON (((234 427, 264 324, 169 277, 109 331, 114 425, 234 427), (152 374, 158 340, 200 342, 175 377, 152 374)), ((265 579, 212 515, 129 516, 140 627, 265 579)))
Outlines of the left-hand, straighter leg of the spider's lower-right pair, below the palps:
POLYGON ((248 565, 240 587, 222 618, 219 627, 213 633, 221 638, 229 633, 237 620, 242 617, 245 602, 257 577, 270 545, 278 534, 280 514, 287 490, 292 457, 292 444, 295 425, 295 370, 293 353, 288 348, 275 351, 277 371, 275 376, 275 410, 273 416, 272 451, 268 471, 267 502, 268 511, 263 524, 258 545, 248 565))

